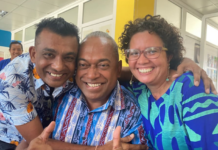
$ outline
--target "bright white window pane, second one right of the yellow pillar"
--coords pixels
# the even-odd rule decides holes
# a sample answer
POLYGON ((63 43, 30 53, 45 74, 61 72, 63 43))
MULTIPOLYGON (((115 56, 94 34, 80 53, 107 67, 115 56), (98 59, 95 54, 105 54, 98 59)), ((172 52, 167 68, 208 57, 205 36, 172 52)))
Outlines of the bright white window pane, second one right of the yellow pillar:
POLYGON ((202 21, 195 16, 186 14, 186 32, 201 38, 202 21))

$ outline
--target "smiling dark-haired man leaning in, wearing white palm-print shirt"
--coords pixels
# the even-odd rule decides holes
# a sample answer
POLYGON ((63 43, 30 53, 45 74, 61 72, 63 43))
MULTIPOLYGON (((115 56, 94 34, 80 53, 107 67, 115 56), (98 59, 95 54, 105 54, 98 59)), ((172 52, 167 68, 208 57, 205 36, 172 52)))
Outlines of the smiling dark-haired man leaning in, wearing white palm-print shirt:
POLYGON ((22 137, 30 142, 50 123, 53 99, 73 86, 78 47, 75 25, 44 19, 37 25, 35 47, 0 72, 1 150, 15 148, 22 137))

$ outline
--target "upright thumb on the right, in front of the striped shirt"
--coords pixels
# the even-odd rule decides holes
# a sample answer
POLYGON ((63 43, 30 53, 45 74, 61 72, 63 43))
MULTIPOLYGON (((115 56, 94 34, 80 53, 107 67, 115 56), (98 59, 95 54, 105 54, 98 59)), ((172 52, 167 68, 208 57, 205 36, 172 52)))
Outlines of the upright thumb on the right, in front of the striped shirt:
POLYGON ((120 132, 121 132, 121 127, 120 126, 116 127, 113 134, 113 150, 123 150, 121 146, 120 132))

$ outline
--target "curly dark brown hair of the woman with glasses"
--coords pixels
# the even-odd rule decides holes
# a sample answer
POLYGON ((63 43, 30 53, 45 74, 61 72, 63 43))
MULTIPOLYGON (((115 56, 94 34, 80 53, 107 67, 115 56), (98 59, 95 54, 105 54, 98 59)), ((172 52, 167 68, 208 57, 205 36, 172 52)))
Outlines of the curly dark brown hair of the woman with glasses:
MULTIPOLYGON (((164 47, 168 50, 167 55, 172 55, 173 58, 170 61, 170 68, 176 70, 177 66, 183 59, 183 38, 180 35, 180 31, 169 24, 164 18, 158 16, 146 15, 144 18, 136 19, 135 21, 129 21, 124 31, 119 37, 120 49, 124 54, 124 51, 129 48, 129 43, 132 36, 136 33, 148 31, 149 33, 157 34, 164 43, 164 47)), ((128 63, 128 60, 126 60, 128 63)))

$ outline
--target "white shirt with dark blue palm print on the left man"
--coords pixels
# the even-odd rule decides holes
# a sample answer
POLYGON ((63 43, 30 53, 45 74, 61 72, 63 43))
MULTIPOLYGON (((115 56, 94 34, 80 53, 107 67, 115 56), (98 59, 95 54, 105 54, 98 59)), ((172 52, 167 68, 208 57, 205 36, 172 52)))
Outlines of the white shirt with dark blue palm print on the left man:
POLYGON ((49 95, 50 88, 38 76, 29 54, 13 59, 0 72, 0 140, 17 145, 22 136, 15 126, 30 122, 37 114, 46 125, 45 120, 52 118, 53 98, 73 85, 68 80, 49 95))

